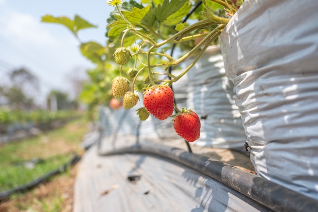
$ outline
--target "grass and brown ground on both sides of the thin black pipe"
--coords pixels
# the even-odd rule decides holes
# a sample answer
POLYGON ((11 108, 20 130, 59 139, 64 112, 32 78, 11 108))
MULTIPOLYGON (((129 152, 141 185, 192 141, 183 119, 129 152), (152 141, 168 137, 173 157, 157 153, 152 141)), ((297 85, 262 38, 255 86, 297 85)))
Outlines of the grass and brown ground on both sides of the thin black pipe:
MULTIPOLYGON (((0 145, 0 193, 59 168, 74 154, 87 132, 84 116, 37 137, 0 145)), ((0 200, 0 211, 72 211, 76 166, 27 192, 0 200)))

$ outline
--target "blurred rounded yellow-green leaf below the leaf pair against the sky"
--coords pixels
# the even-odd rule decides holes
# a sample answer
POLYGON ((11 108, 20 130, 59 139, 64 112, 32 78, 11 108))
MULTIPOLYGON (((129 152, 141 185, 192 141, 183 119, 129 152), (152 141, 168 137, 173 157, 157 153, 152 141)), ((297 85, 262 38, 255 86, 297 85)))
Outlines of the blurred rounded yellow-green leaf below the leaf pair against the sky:
POLYGON ((80 46, 82 54, 93 63, 100 63, 105 53, 105 47, 96 42, 83 43, 80 46))

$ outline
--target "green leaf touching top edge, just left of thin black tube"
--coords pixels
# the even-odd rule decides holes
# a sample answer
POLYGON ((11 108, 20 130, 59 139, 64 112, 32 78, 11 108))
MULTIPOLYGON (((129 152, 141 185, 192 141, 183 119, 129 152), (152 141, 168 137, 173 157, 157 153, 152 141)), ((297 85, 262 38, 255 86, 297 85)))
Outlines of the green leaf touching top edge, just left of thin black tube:
POLYGON ((164 0, 164 2, 157 7, 156 18, 159 23, 163 23, 172 14, 178 12, 183 8, 184 4, 189 4, 188 0, 164 0))

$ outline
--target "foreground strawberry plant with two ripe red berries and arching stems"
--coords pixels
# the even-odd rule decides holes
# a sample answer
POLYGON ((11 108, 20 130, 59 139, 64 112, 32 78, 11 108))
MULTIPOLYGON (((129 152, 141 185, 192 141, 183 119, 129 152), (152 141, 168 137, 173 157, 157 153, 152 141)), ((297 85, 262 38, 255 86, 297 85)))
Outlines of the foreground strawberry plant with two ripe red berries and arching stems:
MULTIPOLYGON (((200 137, 200 119, 194 111, 178 109, 171 85, 217 42, 242 1, 201 3, 187 0, 144 0, 140 4, 121 0, 108 2, 115 8, 108 19, 108 44, 116 48, 113 56, 119 65, 119 75, 126 70, 133 78, 132 92, 143 95, 144 107, 155 118, 167 119, 176 110, 175 131, 189 142, 200 137), (185 22, 185 17, 190 19, 189 23, 185 22), (175 46, 178 46, 178 57, 172 55, 175 46), (169 49, 172 49, 170 54, 166 53, 169 49), (189 56, 195 56, 193 63, 179 75, 171 74, 172 67, 179 66, 189 56), (134 60, 133 68, 130 60, 134 60), (140 77, 145 73, 146 76, 140 77), (143 81, 135 86, 137 78, 143 81), (146 79, 149 83, 145 83, 146 79)), ((144 109, 138 110, 139 115, 141 111, 144 109)))

